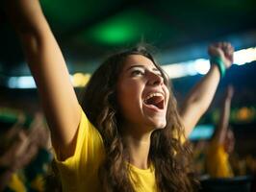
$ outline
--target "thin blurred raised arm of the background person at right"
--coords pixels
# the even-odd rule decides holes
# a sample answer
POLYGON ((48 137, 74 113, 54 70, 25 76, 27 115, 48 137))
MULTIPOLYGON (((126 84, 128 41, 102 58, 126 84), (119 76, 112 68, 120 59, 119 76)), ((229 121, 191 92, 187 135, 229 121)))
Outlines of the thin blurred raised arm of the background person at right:
POLYGON ((216 130, 215 138, 214 138, 219 144, 223 143, 226 137, 233 93, 234 93, 233 86, 231 85, 228 86, 225 93, 225 97, 223 98, 223 103, 221 105, 218 126, 216 130))

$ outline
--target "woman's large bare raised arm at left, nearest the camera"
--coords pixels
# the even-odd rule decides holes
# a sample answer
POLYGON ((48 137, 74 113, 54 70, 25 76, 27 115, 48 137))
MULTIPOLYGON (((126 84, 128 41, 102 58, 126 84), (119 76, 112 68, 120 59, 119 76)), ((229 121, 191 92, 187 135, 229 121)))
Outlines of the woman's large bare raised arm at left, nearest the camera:
POLYGON ((71 156, 80 107, 58 43, 38 0, 5 0, 4 8, 38 86, 53 145, 62 158, 71 156))

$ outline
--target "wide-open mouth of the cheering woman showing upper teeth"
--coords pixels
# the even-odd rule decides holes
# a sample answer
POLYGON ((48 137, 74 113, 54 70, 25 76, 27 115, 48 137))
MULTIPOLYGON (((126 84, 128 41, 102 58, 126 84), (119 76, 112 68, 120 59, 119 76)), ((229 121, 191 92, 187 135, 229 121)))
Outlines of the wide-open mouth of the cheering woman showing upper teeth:
POLYGON ((143 100, 143 103, 149 107, 164 109, 165 97, 162 93, 151 93, 143 100))

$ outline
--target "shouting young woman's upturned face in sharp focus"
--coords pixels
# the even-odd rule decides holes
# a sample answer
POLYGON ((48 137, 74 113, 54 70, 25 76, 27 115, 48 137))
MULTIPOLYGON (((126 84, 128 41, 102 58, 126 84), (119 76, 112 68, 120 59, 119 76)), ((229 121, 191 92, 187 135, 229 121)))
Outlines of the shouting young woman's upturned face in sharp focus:
POLYGON ((117 83, 124 126, 146 131, 165 128, 168 98, 164 78, 152 60, 141 55, 127 57, 117 83))

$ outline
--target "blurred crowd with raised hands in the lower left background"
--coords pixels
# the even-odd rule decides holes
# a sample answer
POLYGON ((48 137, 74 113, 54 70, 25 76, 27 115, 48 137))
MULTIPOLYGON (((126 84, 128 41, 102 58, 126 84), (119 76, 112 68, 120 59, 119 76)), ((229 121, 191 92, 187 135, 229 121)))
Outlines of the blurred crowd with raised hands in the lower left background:
POLYGON ((52 155, 43 115, 0 110, 0 191, 44 191, 52 155))

